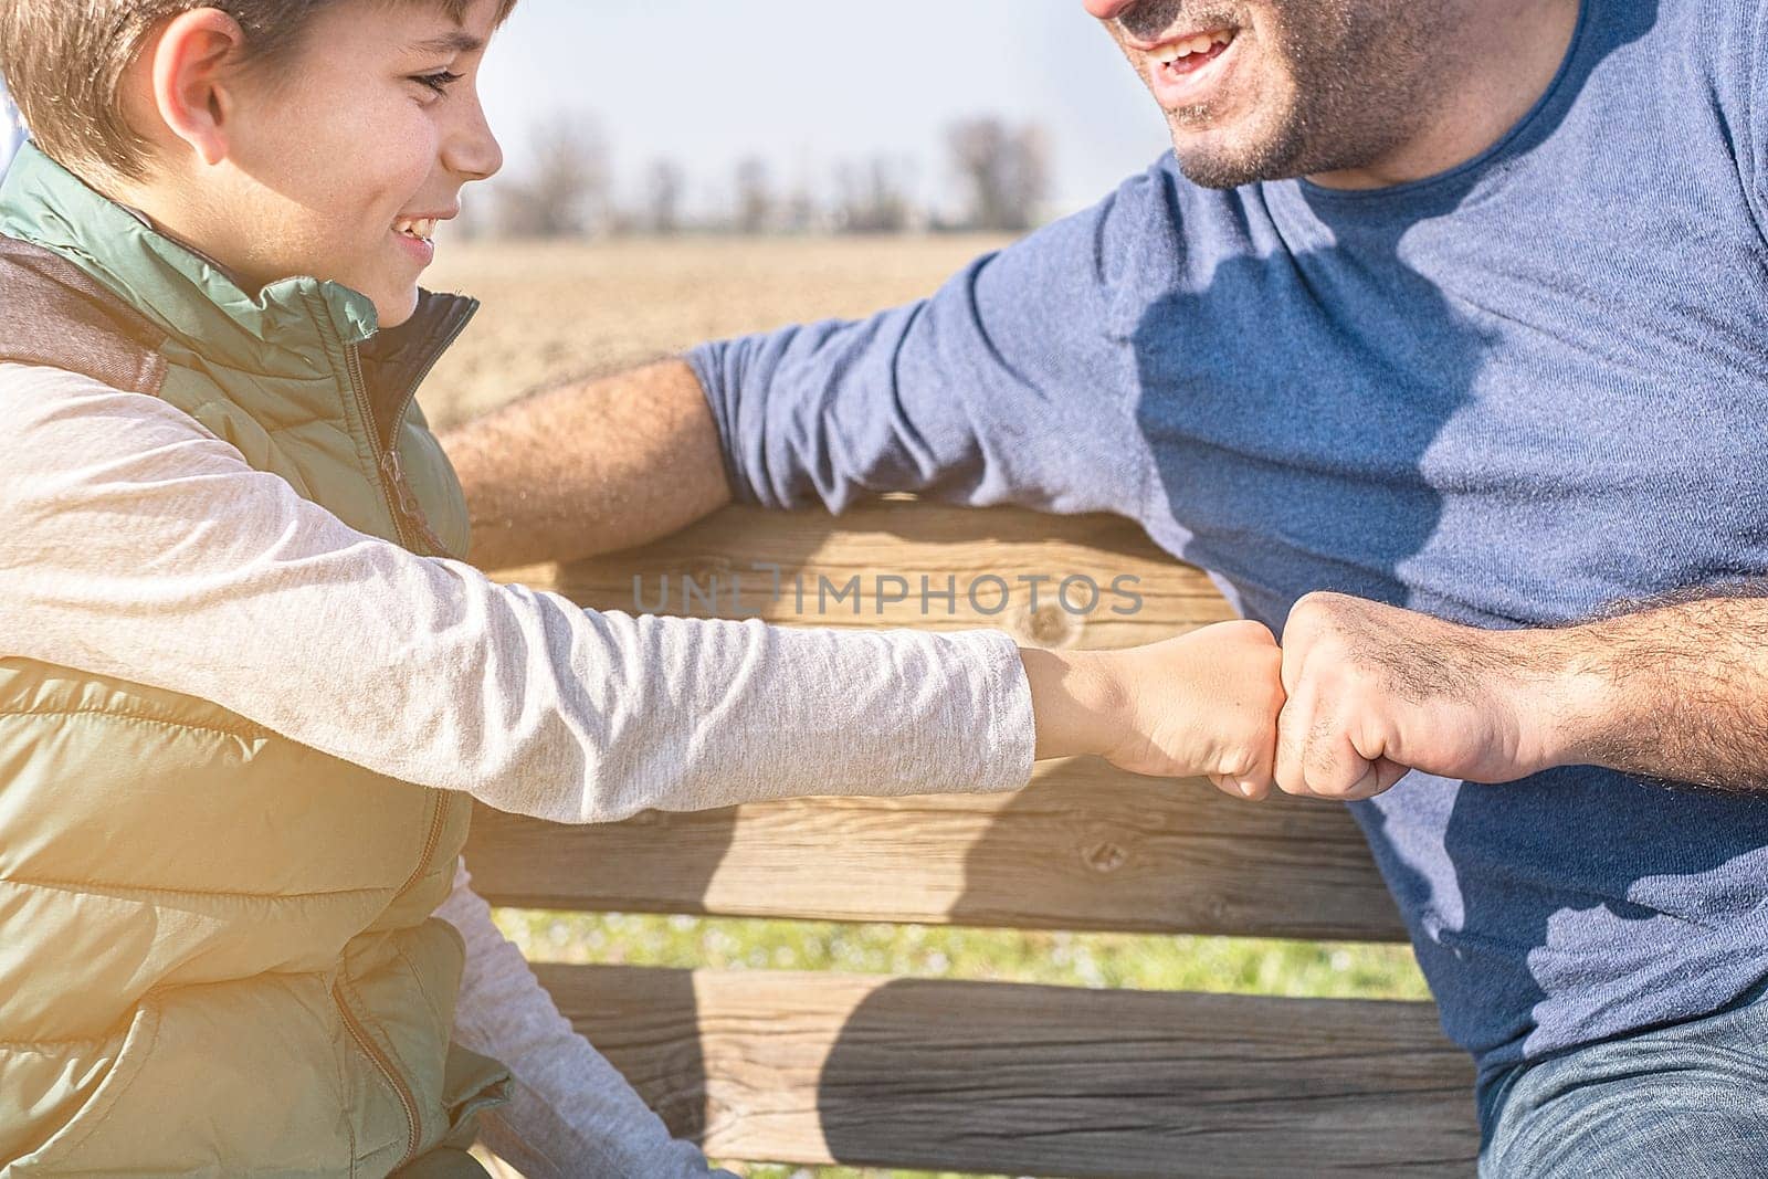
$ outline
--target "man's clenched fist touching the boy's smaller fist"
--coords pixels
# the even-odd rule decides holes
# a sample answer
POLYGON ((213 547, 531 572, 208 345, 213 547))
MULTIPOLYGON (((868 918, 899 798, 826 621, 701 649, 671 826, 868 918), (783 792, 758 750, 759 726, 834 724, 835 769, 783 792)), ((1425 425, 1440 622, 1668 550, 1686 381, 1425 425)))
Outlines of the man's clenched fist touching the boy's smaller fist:
POLYGON ((1418 769, 1512 781, 1558 764, 1561 682, 1540 631, 1482 631, 1308 594, 1284 629, 1276 785, 1368 799, 1418 769))

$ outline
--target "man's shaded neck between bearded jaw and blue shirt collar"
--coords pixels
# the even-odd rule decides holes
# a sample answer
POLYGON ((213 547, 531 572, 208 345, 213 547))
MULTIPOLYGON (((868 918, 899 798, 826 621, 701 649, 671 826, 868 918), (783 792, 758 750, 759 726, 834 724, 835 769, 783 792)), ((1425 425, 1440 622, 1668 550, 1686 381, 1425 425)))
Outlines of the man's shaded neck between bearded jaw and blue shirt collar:
POLYGON ((1460 48, 1443 101, 1420 131, 1381 159, 1308 177, 1330 189, 1379 189, 1423 180, 1497 143, 1540 101, 1565 64, 1581 0, 1522 0, 1480 9, 1455 30, 1460 48))

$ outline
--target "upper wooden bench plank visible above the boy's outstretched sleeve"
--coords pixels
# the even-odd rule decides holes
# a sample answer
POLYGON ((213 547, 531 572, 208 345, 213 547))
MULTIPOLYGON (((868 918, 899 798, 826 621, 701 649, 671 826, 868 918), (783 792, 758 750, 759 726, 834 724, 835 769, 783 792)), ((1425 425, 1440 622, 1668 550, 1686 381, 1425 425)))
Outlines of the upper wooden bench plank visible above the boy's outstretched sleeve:
POLYGON ((1038 647, 1133 647, 1234 617, 1204 573, 1163 553, 1128 520, 912 497, 865 502, 842 516, 728 507, 644 548, 504 569, 497 578, 594 610, 838 628, 983 626, 1038 647), (758 566, 780 567, 778 597, 774 573, 758 566), (854 578, 857 589, 845 594, 854 578), (1073 582, 1064 599, 1068 578, 1086 580, 1073 582), (955 596, 949 605, 939 597, 946 590, 955 596), (896 594, 905 599, 891 601, 896 594))

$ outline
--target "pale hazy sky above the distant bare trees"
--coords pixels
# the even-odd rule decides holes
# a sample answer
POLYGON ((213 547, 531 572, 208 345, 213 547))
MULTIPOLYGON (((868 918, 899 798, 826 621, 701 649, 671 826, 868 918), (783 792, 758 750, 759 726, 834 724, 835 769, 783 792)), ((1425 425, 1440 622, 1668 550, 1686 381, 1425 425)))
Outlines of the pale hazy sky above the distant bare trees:
POLYGON ((522 0, 481 83, 506 171, 550 111, 594 117, 635 196, 654 157, 688 173, 688 209, 723 209, 735 161, 826 193, 842 159, 918 161, 916 194, 951 191, 944 127, 995 113, 1041 124, 1052 203, 1087 205, 1167 147, 1163 122, 1080 0, 522 0))

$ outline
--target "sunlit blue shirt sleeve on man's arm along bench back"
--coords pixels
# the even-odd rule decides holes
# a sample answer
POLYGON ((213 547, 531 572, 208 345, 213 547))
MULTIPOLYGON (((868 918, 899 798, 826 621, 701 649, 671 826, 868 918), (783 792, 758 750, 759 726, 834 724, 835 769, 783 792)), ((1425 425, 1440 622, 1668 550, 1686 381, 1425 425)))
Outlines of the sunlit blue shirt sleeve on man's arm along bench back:
POLYGON ((1158 186, 1137 177, 930 299, 690 352, 735 498, 833 513, 879 491, 1052 513, 1137 504, 1147 444, 1116 313, 1158 186))

